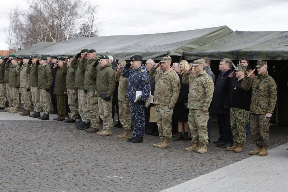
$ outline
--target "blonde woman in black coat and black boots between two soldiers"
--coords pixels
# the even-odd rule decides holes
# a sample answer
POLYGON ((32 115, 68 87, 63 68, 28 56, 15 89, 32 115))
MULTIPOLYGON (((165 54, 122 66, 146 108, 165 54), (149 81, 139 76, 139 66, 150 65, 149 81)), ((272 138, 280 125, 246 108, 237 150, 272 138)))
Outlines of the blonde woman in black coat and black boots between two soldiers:
POLYGON ((188 102, 189 85, 182 83, 182 75, 190 67, 186 60, 180 61, 179 67, 180 67, 179 78, 181 86, 178 100, 173 110, 173 119, 176 120, 178 124, 178 136, 175 139, 173 139, 173 141, 179 141, 180 139, 183 139, 183 141, 187 141, 188 127, 189 127, 188 126, 189 110, 187 107, 185 107, 185 103, 188 102), (183 127, 184 127, 184 134, 182 134, 183 127))

